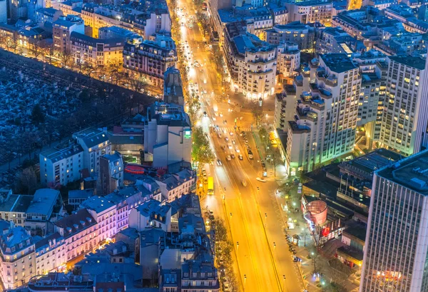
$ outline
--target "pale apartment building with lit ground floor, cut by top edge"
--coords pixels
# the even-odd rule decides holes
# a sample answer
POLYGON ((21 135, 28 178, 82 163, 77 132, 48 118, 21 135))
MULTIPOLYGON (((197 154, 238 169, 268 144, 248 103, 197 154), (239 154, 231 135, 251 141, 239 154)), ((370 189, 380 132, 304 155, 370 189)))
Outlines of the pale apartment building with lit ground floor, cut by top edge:
POLYGON ((330 25, 332 21, 332 1, 286 2, 288 21, 301 21, 303 24, 320 22, 330 25))

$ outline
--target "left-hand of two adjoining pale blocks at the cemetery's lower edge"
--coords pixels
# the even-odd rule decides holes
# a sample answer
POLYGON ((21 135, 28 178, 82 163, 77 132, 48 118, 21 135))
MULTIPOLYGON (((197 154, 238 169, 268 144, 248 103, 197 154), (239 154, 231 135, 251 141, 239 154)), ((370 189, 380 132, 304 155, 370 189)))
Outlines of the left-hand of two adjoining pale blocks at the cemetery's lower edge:
POLYGON ((42 185, 66 186, 81 178, 81 171, 85 168, 83 148, 78 144, 51 148, 39 154, 39 163, 42 185))

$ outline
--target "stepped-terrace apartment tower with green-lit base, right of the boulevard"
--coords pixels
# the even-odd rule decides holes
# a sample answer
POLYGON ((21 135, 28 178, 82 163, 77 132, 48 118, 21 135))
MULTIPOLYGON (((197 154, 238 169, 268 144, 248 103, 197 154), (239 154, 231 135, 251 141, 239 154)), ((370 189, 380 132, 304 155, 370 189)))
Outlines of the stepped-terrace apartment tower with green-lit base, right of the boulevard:
POLYGON ((345 54, 322 54, 310 62, 309 74, 315 83, 296 84, 302 94, 295 121, 288 122, 286 163, 292 176, 350 154, 355 143, 361 85, 357 66, 345 54))

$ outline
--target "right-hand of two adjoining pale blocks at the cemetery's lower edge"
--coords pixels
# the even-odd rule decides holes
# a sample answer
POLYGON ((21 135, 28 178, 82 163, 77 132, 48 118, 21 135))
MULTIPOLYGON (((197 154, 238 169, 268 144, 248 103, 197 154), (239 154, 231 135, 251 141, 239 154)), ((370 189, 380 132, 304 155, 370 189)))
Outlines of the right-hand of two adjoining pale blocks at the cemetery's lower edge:
POLYGON ((85 129, 73 134, 73 138, 83 148, 83 165, 91 174, 99 173, 100 157, 111 154, 111 143, 103 131, 97 129, 85 129))

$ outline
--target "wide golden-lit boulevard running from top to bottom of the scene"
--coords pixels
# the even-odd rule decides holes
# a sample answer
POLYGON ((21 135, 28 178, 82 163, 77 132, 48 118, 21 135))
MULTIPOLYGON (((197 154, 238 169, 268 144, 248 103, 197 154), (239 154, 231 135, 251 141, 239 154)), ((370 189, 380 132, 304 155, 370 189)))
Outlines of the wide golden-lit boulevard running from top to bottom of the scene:
MULTIPOLYGON (((195 15, 195 4, 192 0, 178 0, 177 6, 180 21, 178 29, 182 39, 182 43, 177 45, 183 46, 179 58, 187 56, 188 64, 194 64, 195 61, 201 64, 197 67, 190 65, 188 80, 189 83, 197 83, 202 103, 202 118, 198 123, 208 134, 216 160, 222 163, 219 166, 215 161, 212 166, 206 166, 208 176, 214 177, 215 195, 205 196, 201 205, 213 210, 215 216, 223 218, 230 229, 235 246, 235 261, 238 258, 235 271, 244 291, 302 291, 302 278, 297 264, 292 262, 283 233, 282 211, 275 199, 277 183, 273 178, 266 182, 256 180, 262 176, 262 168, 251 132, 253 115, 248 109, 229 112, 232 108, 227 102, 216 101, 215 98, 222 95, 222 89, 216 66, 211 60, 210 48, 204 44, 203 33, 195 17, 190 19, 190 16, 195 15), (207 116, 203 116, 204 111, 207 116), (240 131, 246 131, 254 153, 253 160, 248 158, 240 131, 234 130, 235 118, 240 131), (221 138, 218 132, 210 131, 210 124, 220 128, 221 138), (228 137, 228 142, 225 137, 228 137), (225 146, 225 150, 221 146, 225 146), (226 156, 232 153, 235 158, 227 161, 226 156), (239 154, 243 155, 243 160, 238 159, 239 154)), ((176 19, 173 24, 177 26, 176 19)), ((190 84, 185 86, 190 89, 190 84)), ((273 104, 272 100, 270 103, 273 104)))

